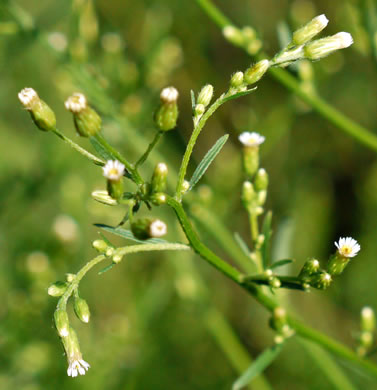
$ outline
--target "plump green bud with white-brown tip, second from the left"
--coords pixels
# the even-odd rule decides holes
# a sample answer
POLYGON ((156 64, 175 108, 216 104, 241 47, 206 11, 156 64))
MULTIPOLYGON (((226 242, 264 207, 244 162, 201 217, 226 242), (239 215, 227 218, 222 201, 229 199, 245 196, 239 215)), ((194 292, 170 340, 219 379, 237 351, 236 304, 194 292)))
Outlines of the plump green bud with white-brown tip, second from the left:
POLYGON ((65 101, 65 108, 73 114, 77 133, 81 137, 96 135, 102 126, 101 117, 88 105, 82 93, 74 93, 65 101))

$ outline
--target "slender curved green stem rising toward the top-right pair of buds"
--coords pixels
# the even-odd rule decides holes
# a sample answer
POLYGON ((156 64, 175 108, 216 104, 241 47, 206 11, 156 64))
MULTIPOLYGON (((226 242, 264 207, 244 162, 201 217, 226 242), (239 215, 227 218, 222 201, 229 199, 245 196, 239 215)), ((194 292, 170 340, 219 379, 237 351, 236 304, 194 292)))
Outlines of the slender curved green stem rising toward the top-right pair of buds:
POLYGON ((200 118, 199 122, 194 126, 194 130, 191 134, 190 140, 187 144, 185 154, 182 159, 181 166, 179 168, 179 173, 178 173, 178 183, 177 183, 177 188, 175 191, 175 199, 178 202, 181 202, 182 200, 182 186, 183 186, 183 181, 185 180, 185 175, 187 171, 187 166, 190 162, 190 157, 192 154, 192 151, 194 149, 195 143, 197 138, 199 137, 200 132, 202 131, 204 125, 206 124, 207 120, 209 117, 223 104, 227 101, 227 98, 230 95, 228 93, 221 95, 208 109, 207 111, 203 114, 203 116, 200 118))

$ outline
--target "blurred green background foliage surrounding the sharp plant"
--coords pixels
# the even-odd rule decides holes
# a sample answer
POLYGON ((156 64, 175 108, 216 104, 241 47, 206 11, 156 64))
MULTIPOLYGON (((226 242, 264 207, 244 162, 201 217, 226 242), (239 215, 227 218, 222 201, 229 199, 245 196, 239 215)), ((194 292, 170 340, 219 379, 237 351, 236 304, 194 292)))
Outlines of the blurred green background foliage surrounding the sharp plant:
MULTIPOLYGON (((373 130, 376 57, 366 22, 371 3, 216 1, 235 24, 255 27, 270 55, 279 48, 279 31, 282 37, 321 13, 330 19, 327 33, 351 32, 351 48, 289 71, 304 78, 313 72, 308 88, 373 130)), ((156 162, 167 162, 173 188, 192 130, 190 89, 211 83, 223 92, 250 57, 224 40, 195 1, 1 0, 0 6, 0 389, 230 389, 249 357, 272 344, 268 315, 197 256, 179 252, 133 255, 101 276, 95 270, 87 275, 81 294, 91 322, 82 325, 70 315, 92 368, 83 377, 67 377, 52 323, 56 300, 47 287, 95 255, 93 224, 116 225, 123 210, 91 199, 93 190, 105 187, 101 170, 36 130, 17 93, 36 89, 54 109, 59 129, 90 149, 75 135, 63 104, 71 93, 84 92, 101 113, 107 138, 135 161, 153 138, 159 91, 174 85, 180 91, 178 127, 143 167, 149 177, 156 162)), ((249 235, 239 202, 241 131, 266 136, 262 166, 271 182, 272 253, 296 260, 285 272, 297 272, 311 256, 324 261, 339 236, 360 242, 360 255, 326 292, 279 291, 308 324, 356 345, 360 309, 377 304, 375 152, 269 75, 256 93, 227 103, 200 136, 194 162, 224 133, 230 140, 186 208, 203 240, 229 261, 229 251, 240 250, 224 226, 245 240, 249 235)), ((168 221, 169 240, 184 240, 171 210, 153 212, 168 221)), ((270 387, 250 388, 335 388, 320 361, 292 339, 265 373, 270 387)), ((370 378, 339 363, 356 388, 376 389, 370 378)))

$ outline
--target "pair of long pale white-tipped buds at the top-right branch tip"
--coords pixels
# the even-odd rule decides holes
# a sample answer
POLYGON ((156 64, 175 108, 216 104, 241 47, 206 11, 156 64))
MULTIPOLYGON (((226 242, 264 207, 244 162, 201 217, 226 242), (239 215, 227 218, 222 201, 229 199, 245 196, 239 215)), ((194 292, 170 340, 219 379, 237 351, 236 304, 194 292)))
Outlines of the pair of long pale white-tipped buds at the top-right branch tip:
POLYGON ((291 43, 274 57, 271 61, 272 65, 286 66, 303 58, 315 61, 351 46, 353 39, 347 32, 339 32, 312 41, 327 26, 328 22, 325 15, 319 15, 296 30, 291 43))

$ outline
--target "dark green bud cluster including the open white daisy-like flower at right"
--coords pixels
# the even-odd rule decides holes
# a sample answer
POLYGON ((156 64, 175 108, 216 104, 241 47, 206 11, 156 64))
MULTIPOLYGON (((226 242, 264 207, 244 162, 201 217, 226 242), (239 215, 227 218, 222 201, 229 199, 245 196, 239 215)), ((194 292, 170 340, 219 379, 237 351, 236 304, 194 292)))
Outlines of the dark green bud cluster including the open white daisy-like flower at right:
POLYGON ((337 251, 329 259, 326 269, 320 268, 317 259, 307 260, 302 267, 298 278, 305 288, 314 287, 324 290, 330 286, 333 277, 340 275, 352 257, 360 251, 360 245, 351 237, 340 238, 334 243, 337 251))

